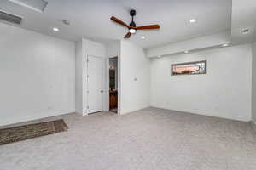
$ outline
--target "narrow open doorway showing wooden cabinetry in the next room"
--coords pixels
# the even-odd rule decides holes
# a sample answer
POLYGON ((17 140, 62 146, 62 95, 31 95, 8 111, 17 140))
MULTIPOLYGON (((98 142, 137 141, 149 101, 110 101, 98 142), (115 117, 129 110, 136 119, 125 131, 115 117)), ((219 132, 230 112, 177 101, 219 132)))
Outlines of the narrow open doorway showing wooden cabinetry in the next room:
POLYGON ((118 112, 118 57, 109 59, 109 111, 118 112))

